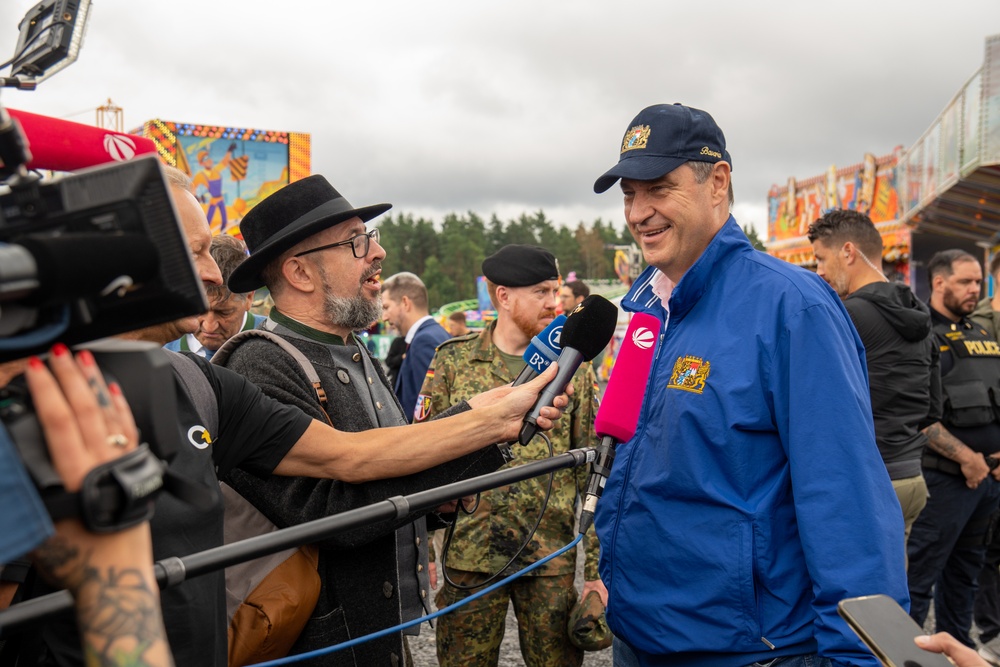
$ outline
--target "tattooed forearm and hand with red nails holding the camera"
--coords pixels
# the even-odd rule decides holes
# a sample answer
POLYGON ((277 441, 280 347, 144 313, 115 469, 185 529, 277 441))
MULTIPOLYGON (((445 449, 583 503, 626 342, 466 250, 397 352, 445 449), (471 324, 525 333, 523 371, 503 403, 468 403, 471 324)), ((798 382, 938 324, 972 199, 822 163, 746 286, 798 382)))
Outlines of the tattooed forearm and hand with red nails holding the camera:
MULTIPOLYGON (((109 388, 90 352, 74 360, 52 349, 51 373, 37 357, 25 373, 53 467, 67 491, 79 491, 95 466, 135 449, 138 432, 117 385, 109 388)), ((95 534, 77 519, 32 552, 39 572, 76 600, 88 664, 172 665, 153 575, 149 524, 95 534)))

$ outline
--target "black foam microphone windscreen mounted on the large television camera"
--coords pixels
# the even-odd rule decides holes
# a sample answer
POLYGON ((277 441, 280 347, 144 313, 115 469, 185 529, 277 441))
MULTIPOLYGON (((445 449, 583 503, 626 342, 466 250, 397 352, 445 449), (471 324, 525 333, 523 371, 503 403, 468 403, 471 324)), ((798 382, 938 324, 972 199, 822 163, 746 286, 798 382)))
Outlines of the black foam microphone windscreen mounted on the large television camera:
POLYGON ((22 236, 24 247, 38 265, 39 289, 35 303, 98 294, 118 276, 136 284, 151 280, 160 266, 156 246, 142 234, 71 233, 58 236, 22 236))

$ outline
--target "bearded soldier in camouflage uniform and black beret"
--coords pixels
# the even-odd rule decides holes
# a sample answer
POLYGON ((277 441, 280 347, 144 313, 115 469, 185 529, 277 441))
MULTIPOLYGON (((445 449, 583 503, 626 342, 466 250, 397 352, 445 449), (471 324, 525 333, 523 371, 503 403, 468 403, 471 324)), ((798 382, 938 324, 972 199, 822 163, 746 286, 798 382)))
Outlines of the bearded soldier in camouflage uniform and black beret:
MULTIPOLYGON (((442 343, 431 362, 418 405, 426 414, 440 414, 453 403, 481 391, 511 382, 525 362, 531 338, 556 316, 559 267, 555 257, 531 245, 508 245, 483 261, 490 300, 497 319, 481 333, 442 343)), ((549 435, 556 454, 590 447, 594 433, 596 379, 590 363, 573 376, 574 395, 567 407, 569 420, 549 435)), ((517 456, 530 461, 549 456, 538 438, 519 448, 517 456)), ((481 494, 471 516, 460 514, 446 540, 443 554, 445 584, 438 607, 469 596, 469 587, 484 585, 513 559, 520 570, 548 556, 575 537, 576 501, 582 497, 587 470, 555 473, 548 505, 544 506, 548 478, 540 477, 481 494), (540 523, 532 535, 536 521, 540 523), (530 536, 530 540, 529 540, 530 536), (528 540, 518 553, 522 542, 528 540)), ((588 533, 584 593, 607 592, 597 576, 598 545, 588 533)), ((496 665, 503 639, 508 600, 518 619, 521 654, 533 667, 580 665, 583 652, 567 633, 570 609, 576 602, 573 586, 576 552, 570 552, 490 595, 438 620, 437 654, 442 667, 496 665)))

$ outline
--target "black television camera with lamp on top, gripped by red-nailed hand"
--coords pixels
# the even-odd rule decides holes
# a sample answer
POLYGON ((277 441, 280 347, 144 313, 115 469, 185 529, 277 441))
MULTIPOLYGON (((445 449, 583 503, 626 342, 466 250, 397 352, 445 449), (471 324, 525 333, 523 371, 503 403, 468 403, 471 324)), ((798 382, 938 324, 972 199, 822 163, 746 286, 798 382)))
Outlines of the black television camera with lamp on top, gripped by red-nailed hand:
MULTIPOLYGON (((0 85, 31 90, 73 62, 89 7, 35 4, 19 25, 17 53, 0 66, 12 66, 0 85)), ((169 358, 155 345, 107 337, 208 305, 155 156, 43 178, 26 168, 29 140, 0 106, 0 363, 56 342, 88 347, 121 385, 144 444, 68 494, 23 383, 0 389, 0 422, 54 519, 75 515, 91 530, 117 530, 147 519, 161 487, 183 495, 185 485, 165 464, 178 437, 169 358)))

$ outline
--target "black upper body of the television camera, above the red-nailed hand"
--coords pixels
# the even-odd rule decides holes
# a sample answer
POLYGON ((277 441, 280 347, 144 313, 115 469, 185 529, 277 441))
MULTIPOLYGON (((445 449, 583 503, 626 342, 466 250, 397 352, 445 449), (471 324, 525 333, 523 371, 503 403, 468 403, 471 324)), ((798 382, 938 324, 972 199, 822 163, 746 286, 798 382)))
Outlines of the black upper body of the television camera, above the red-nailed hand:
POLYGON ((23 335, 46 326, 73 345, 208 309, 156 157, 8 187, 0 258, 25 261, 0 261, 0 362, 47 349, 23 335))

